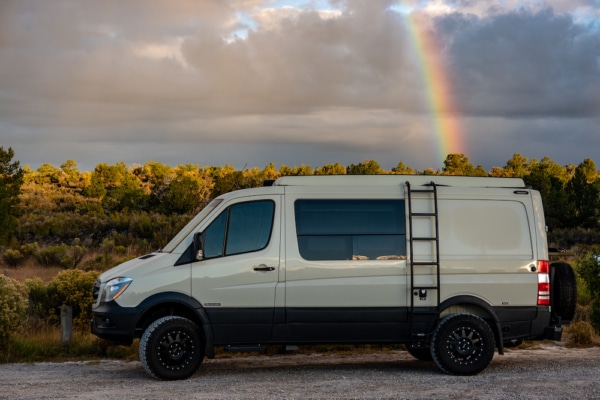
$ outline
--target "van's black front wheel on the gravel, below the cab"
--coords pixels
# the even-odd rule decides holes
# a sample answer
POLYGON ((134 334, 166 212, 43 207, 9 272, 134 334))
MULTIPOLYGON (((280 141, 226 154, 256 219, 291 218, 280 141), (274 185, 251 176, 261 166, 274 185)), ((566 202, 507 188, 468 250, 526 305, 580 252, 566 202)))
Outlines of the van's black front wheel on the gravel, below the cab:
POLYGON ((204 358, 200 330, 189 319, 162 317, 140 339, 140 361, 146 372, 161 380, 190 377, 204 358))

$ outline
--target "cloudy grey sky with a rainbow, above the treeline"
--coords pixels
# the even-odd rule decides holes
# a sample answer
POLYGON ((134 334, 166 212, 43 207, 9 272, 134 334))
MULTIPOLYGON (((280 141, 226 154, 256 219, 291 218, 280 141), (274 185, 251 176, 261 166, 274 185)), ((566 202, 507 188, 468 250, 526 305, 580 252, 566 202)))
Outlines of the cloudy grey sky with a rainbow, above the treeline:
POLYGON ((1 0, 32 169, 600 167, 600 0, 1 0))

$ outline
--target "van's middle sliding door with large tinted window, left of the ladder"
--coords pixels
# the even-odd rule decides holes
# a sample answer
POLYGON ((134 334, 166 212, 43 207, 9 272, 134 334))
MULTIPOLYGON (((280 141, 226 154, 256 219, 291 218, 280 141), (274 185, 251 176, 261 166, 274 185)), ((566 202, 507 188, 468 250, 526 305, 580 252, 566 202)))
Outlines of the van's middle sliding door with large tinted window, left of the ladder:
POLYGON ((286 208, 289 341, 397 340, 406 313, 404 200, 301 199, 286 208))

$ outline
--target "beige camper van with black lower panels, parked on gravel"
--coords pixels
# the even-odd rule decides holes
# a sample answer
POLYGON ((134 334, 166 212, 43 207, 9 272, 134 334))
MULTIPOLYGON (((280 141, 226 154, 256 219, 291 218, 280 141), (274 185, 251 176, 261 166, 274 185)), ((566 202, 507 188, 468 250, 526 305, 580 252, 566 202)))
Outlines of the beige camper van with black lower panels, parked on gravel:
POLYGON ((575 297, 521 179, 295 176, 219 196, 161 251, 103 273, 91 329, 140 338, 165 380, 215 346, 315 343, 405 344, 471 375, 495 348, 560 340, 575 297))

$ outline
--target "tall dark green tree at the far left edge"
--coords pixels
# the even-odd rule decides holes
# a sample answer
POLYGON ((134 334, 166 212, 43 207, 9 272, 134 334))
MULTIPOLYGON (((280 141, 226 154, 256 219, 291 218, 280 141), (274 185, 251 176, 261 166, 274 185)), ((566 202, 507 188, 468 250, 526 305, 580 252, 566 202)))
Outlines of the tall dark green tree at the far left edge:
POLYGON ((0 244, 10 244, 13 240, 20 215, 19 193, 24 171, 18 161, 12 161, 14 155, 11 147, 4 150, 0 146, 0 244))

